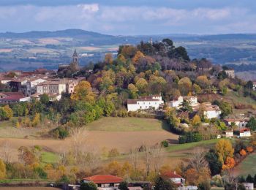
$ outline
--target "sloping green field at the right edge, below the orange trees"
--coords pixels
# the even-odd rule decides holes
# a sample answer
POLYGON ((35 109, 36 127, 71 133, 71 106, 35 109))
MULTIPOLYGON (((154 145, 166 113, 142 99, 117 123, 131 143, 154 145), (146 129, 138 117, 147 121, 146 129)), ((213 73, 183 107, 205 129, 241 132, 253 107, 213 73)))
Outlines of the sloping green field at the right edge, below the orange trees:
POLYGON ((236 175, 244 175, 248 174, 254 176, 256 174, 256 153, 252 153, 246 157, 238 166, 235 168, 236 175))

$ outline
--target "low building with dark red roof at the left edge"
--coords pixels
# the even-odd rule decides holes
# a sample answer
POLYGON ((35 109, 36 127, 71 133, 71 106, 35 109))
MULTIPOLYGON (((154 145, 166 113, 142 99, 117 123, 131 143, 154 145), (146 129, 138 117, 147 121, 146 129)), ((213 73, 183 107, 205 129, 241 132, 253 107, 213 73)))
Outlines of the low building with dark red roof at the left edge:
POLYGON ((0 104, 17 103, 23 98, 24 96, 21 92, 0 92, 0 104))

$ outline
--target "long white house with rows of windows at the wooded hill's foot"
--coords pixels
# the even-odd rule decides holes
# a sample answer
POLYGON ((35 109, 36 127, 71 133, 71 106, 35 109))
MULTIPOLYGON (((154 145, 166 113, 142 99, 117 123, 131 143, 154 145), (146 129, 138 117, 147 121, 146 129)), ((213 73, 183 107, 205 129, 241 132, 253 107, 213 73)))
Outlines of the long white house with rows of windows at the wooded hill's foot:
POLYGON ((148 109, 158 110, 160 105, 163 103, 164 101, 162 101, 162 96, 159 95, 139 96, 138 99, 127 100, 127 109, 128 112, 148 109))

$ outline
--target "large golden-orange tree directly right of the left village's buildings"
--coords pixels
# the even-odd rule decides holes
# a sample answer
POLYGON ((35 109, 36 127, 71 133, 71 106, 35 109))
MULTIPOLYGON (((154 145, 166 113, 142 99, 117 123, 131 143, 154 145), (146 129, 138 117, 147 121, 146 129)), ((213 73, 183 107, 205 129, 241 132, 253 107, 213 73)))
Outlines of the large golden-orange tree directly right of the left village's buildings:
POLYGON ((91 84, 87 81, 81 81, 78 86, 75 86, 74 94, 71 99, 84 100, 86 102, 94 102, 94 93, 91 89, 91 84))

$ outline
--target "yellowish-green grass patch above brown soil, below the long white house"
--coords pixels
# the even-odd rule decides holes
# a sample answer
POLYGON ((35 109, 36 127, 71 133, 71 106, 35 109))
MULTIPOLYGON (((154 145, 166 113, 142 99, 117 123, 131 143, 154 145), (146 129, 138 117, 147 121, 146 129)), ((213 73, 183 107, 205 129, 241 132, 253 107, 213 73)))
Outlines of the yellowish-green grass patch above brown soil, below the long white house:
POLYGON ((86 126, 89 131, 141 132, 167 130, 165 121, 151 118, 101 118, 86 126))

